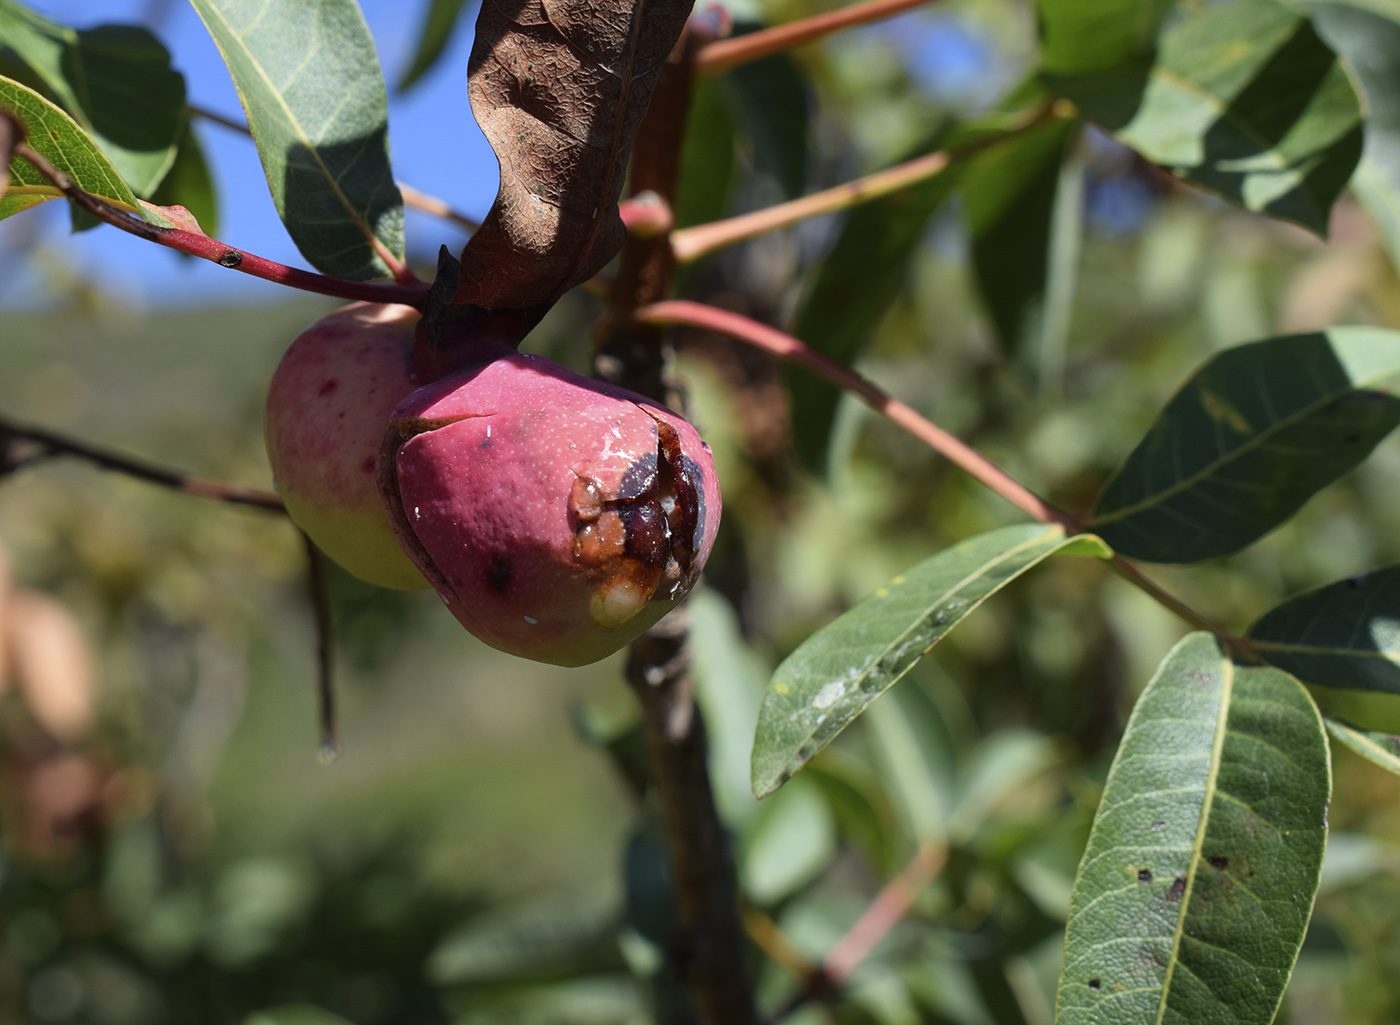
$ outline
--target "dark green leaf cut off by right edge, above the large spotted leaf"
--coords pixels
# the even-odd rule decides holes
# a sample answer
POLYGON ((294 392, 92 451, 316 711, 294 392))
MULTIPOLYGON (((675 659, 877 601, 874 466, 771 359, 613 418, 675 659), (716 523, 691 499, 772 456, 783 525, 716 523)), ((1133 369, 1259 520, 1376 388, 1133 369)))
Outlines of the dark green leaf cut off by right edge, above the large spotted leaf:
POLYGON ((1289 598, 1249 640, 1303 683, 1400 695, 1400 566, 1289 598))

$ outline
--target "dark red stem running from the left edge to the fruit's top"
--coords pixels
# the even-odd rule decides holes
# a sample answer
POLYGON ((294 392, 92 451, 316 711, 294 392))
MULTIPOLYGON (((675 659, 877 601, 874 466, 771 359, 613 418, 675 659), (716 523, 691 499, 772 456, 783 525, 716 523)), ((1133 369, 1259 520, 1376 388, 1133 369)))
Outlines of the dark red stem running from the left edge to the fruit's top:
POLYGON ((35 151, 34 147, 27 143, 17 146, 14 153, 15 155, 24 157, 27 161, 34 164, 39 174, 53 182, 59 192, 81 206, 84 210, 99 220, 106 221, 112 227, 120 228, 122 231, 136 235, 137 238, 144 238, 147 242, 155 242, 157 245, 164 245, 167 248, 189 253, 190 256, 199 256, 200 259, 210 260, 211 263, 218 263, 220 266, 231 267, 232 270, 241 270, 242 273, 252 274, 253 277, 260 277, 265 281, 276 281, 277 284, 286 284, 293 288, 314 291, 322 295, 335 295, 337 298, 347 300, 365 300, 368 302, 402 302, 410 307, 421 305, 424 295, 427 295, 428 286, 426 283, 412 286, 365 284, 363 281, 347 281, 340 277, 326 277, 325 274, 316 274, 311 270, 300 270, 297 267, 288 267, 284 263, 277 263, 276 260, 269 260, 263 256, 255 256, 251 252, 235 249, 234 246, 204 234, 151 224, 78 188, 71 178, 59 171, 48 161, 48 158, 43 157, 43 154, 35 151))

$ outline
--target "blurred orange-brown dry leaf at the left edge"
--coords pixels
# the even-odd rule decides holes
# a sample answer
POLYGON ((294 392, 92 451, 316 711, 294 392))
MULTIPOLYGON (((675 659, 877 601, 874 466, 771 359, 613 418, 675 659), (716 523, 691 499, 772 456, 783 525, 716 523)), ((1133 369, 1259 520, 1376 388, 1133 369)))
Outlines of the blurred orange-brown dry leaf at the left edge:
POLYGON ((35 721, 73 742, 92 724, 92 658, 83 629, 63 605, 13 591, 6 606, 10 665, 35 721))

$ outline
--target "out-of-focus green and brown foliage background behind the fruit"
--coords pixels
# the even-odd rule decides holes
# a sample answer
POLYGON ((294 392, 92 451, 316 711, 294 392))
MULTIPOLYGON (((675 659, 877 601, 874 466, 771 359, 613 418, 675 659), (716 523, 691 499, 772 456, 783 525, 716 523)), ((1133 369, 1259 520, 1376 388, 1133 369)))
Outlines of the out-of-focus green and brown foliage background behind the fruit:
MULTIPOLYGON (((778 22, 812 10, 736 13, 778 22)), ((1023 81, 1035 50, 1032 13, 1011 0, 949 0, 806 46, 781 74, 801 87, 783 102, 808 102, 809 120, 783 151, 752 133, 756 118, 785 115, 735 106, 759 85, 714 83, 697 99, 683 218, 927 148, 1023 81)), ((1050 197, 1081 190, 1061 354, 1025 351, 1050 344, 1025 325, 1028 294, 1051 284, 986 287, 995 239, 979 246, 967 195, 920 203, 917 238, 895 239, 893 263, 882 256, 864 337, 843 342, 864 374, 1050 500, 1085 511, 1156 410, 1226 346, 1400 326, 1400 276, 1350 197, 1324 244, 1191 190, 1092 127, 1064 150, 1077 175, 1025 168, 1033 234, 1051 251, 1050 197), (988 308, 988 295, 1015 308, 988 308)), ((687 270, 683 294, 784 323, 847 258, 843 228, 882 213, 722 251, 687 270)), ((262 393, 328 304, 133 308, 76 280, 42 238, 4 238, 29 248, 0 260, 22 256, 45 287, 3 312, 0 412, 269 486, 262 393)), ((570 297, 526 349, 585 367, 598 312, 570 297)), ((1018 517, 850 398, 805 466, 790 427, 801 389, 778 365, 697 332, 676 349, 725 493, 689 608, 763 1008, 798 993, 797 973, 920 844, 944 839, 946 867, 910 914, 839 994, 787 1021, 1047 1025, 1109 762, 1184 626, 1095 560, 1050 560, 755 801, 749 751, 778 661, 895 574, 1018 517)), ((94 725, 63 741, 31 709, 32 682, 0 690, 0 1025, 685 1021, 620 660, 511 660, 433 595, 335 574, 343 752, 323 766, 302 553, 279 517, 50 461, 0 482, 0 542, 11 592, 77 618, 98 682, 94 725)), ((1154 576, 1239 632, 1299 591, 1394 562, 1390 437, 1247 550, 1154 576)), ((1340 744, 1333 759, 1323 891, 1281 1021, 1379 1025, 1400 1017, 1400 780, 1340 744)))

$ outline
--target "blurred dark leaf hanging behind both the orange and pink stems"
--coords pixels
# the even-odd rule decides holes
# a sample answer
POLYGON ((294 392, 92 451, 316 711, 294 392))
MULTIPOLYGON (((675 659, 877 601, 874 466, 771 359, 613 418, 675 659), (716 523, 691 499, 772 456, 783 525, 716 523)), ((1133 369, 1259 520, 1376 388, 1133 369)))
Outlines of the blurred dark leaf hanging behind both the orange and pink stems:
MULTIPOLYGON (((941 136, 906 158, 938 148, 941 136)), ((953 165, 851 210, 804 290, 792 333, 837 363, 853 363, 903 290, 930 218, 952 196, 962 174, 963 167, 953 165)), ((797 451, 808 469, 822 473, 841 392, 802 370, 788 375, 788 386, 797 451)))

